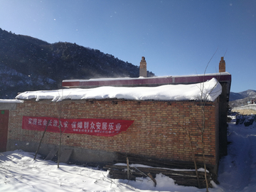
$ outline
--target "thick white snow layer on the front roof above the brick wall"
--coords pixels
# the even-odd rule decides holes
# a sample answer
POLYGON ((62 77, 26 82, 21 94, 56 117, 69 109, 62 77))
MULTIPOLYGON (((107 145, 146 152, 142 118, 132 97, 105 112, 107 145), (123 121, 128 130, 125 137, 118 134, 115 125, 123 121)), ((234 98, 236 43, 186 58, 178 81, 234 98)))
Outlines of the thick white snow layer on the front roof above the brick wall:
POLYGON ((18 100, 207 100, 213 102, 222 91, 215 78, 191 85, 161 85, 159 87, 96 87, 91 89, 41 90, 22 92, 18 100))

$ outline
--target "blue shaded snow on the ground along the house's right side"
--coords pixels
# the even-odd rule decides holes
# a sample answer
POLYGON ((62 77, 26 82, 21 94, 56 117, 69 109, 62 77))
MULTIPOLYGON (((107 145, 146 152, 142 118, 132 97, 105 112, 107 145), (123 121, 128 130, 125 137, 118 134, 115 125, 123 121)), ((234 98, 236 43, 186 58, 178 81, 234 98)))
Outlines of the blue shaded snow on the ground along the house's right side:
POLYGON ((229 124, 228 156, 220 161, 218 181, 225 191, 256 191, 256 122, 229 124))

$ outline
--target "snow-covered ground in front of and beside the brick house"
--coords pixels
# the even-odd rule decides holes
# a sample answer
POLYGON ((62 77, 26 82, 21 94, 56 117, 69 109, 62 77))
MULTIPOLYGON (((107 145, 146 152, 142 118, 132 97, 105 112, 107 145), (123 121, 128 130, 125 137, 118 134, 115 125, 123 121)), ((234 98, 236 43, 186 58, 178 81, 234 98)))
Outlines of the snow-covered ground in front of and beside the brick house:
MULTIPOLYGON (((220 160, 218 185, 211 192, 256 191, 256 122, 245 127, 229 124, 228 156, 220 160)), ((96 168, 33 160, 34 153, 7 151, 0 153, 0 191, 206 191, 196 187, 178 186, 162 174, 157 185, 149 178, 137 181, 111 179, 107 171, 96 168)))

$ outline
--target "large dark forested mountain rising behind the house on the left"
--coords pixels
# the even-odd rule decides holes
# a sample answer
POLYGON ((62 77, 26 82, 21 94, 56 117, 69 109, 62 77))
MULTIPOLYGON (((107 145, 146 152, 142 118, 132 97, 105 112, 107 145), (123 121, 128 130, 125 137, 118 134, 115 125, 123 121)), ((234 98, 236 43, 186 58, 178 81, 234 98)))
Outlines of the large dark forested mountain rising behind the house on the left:
MULTIPOLYGON (((148 77, 154 73, 148 71, 148 77)), ((47 43, 0 28, 0 98, 52 90, 62 80, 139 77, 139 67, 75 43, 47 43)))

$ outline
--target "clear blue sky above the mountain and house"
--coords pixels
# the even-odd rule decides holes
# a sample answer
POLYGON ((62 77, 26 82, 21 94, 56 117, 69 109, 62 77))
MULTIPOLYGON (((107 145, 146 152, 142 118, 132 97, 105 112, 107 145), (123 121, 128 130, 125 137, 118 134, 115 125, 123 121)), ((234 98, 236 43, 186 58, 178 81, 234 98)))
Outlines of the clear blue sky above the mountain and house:
POLYGON ((232 92, 256 90, 256 1, 0 0, 0 28, 70 42, 157 76, 217 73, 224 56, 232 92), (217 50, 217 51, 216 51, 217 50))

